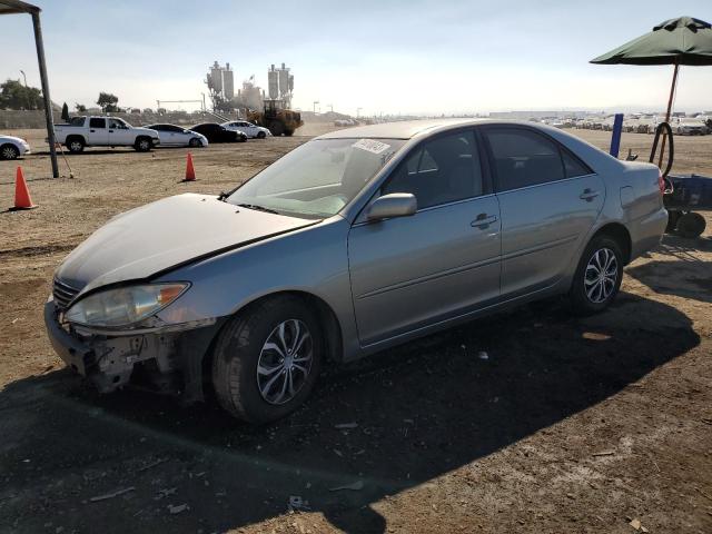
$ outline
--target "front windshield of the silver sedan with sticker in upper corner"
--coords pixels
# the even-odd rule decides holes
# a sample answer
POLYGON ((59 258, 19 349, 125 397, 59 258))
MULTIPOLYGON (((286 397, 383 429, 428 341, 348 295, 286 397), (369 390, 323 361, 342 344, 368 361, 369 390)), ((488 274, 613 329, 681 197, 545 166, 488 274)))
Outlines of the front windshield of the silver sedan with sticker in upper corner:
POLYGON ((403 139, 316 139, 227 198, 235 205, 307 218, 336 215, 405 144, 403 139))

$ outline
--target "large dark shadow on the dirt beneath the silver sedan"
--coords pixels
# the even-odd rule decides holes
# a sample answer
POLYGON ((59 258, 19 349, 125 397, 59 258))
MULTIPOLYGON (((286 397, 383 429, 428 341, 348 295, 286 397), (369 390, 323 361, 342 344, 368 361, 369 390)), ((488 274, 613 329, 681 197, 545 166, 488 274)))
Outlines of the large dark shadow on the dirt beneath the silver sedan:
POLYGON ((540 303, 330 369, 303 409, 264 427, 212 405, 100 397, 66 370, 27 378, 0 392, 0 515, 14 532, 222 532, 297 495, 346 532, 383 532, 370 505, 385 495, 584 411, 698 344, 686 316, 630 294, 587 319, 540 303), (353 483, 363 488, 332 491, 353 483))

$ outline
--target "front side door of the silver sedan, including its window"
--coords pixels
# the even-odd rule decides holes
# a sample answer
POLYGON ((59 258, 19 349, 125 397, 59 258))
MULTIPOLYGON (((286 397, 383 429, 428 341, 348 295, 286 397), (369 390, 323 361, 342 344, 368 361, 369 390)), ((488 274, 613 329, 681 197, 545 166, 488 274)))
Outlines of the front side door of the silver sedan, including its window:
POLYGON ((412 217, 356 219, 348 235, 362 345, 473 310, 500 295, 500 209, 472 129, 424 141, 380 194, 409 192, 412 217))

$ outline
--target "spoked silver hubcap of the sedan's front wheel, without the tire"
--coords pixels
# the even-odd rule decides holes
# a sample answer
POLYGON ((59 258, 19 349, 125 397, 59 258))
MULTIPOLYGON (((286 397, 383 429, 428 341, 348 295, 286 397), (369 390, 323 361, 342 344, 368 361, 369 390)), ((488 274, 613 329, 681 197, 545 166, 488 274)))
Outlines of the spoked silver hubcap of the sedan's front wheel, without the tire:
POLYGON ((269 404, 285 404, 304 387, 312 372, 314 343, 307 325, 288 319, 271 330, 257 360, 257 388, 269 404))

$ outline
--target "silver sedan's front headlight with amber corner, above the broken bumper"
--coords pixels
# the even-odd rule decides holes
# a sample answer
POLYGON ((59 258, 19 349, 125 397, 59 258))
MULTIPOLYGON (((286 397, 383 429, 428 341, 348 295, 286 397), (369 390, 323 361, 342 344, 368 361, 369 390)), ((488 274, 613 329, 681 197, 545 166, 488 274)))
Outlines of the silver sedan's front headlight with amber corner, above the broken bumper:
POLYGON ((139 323, 168 306, 190 285, 147 284, 95 293, 75 304, 65 318, 97 327, 119 327, 139 323))

